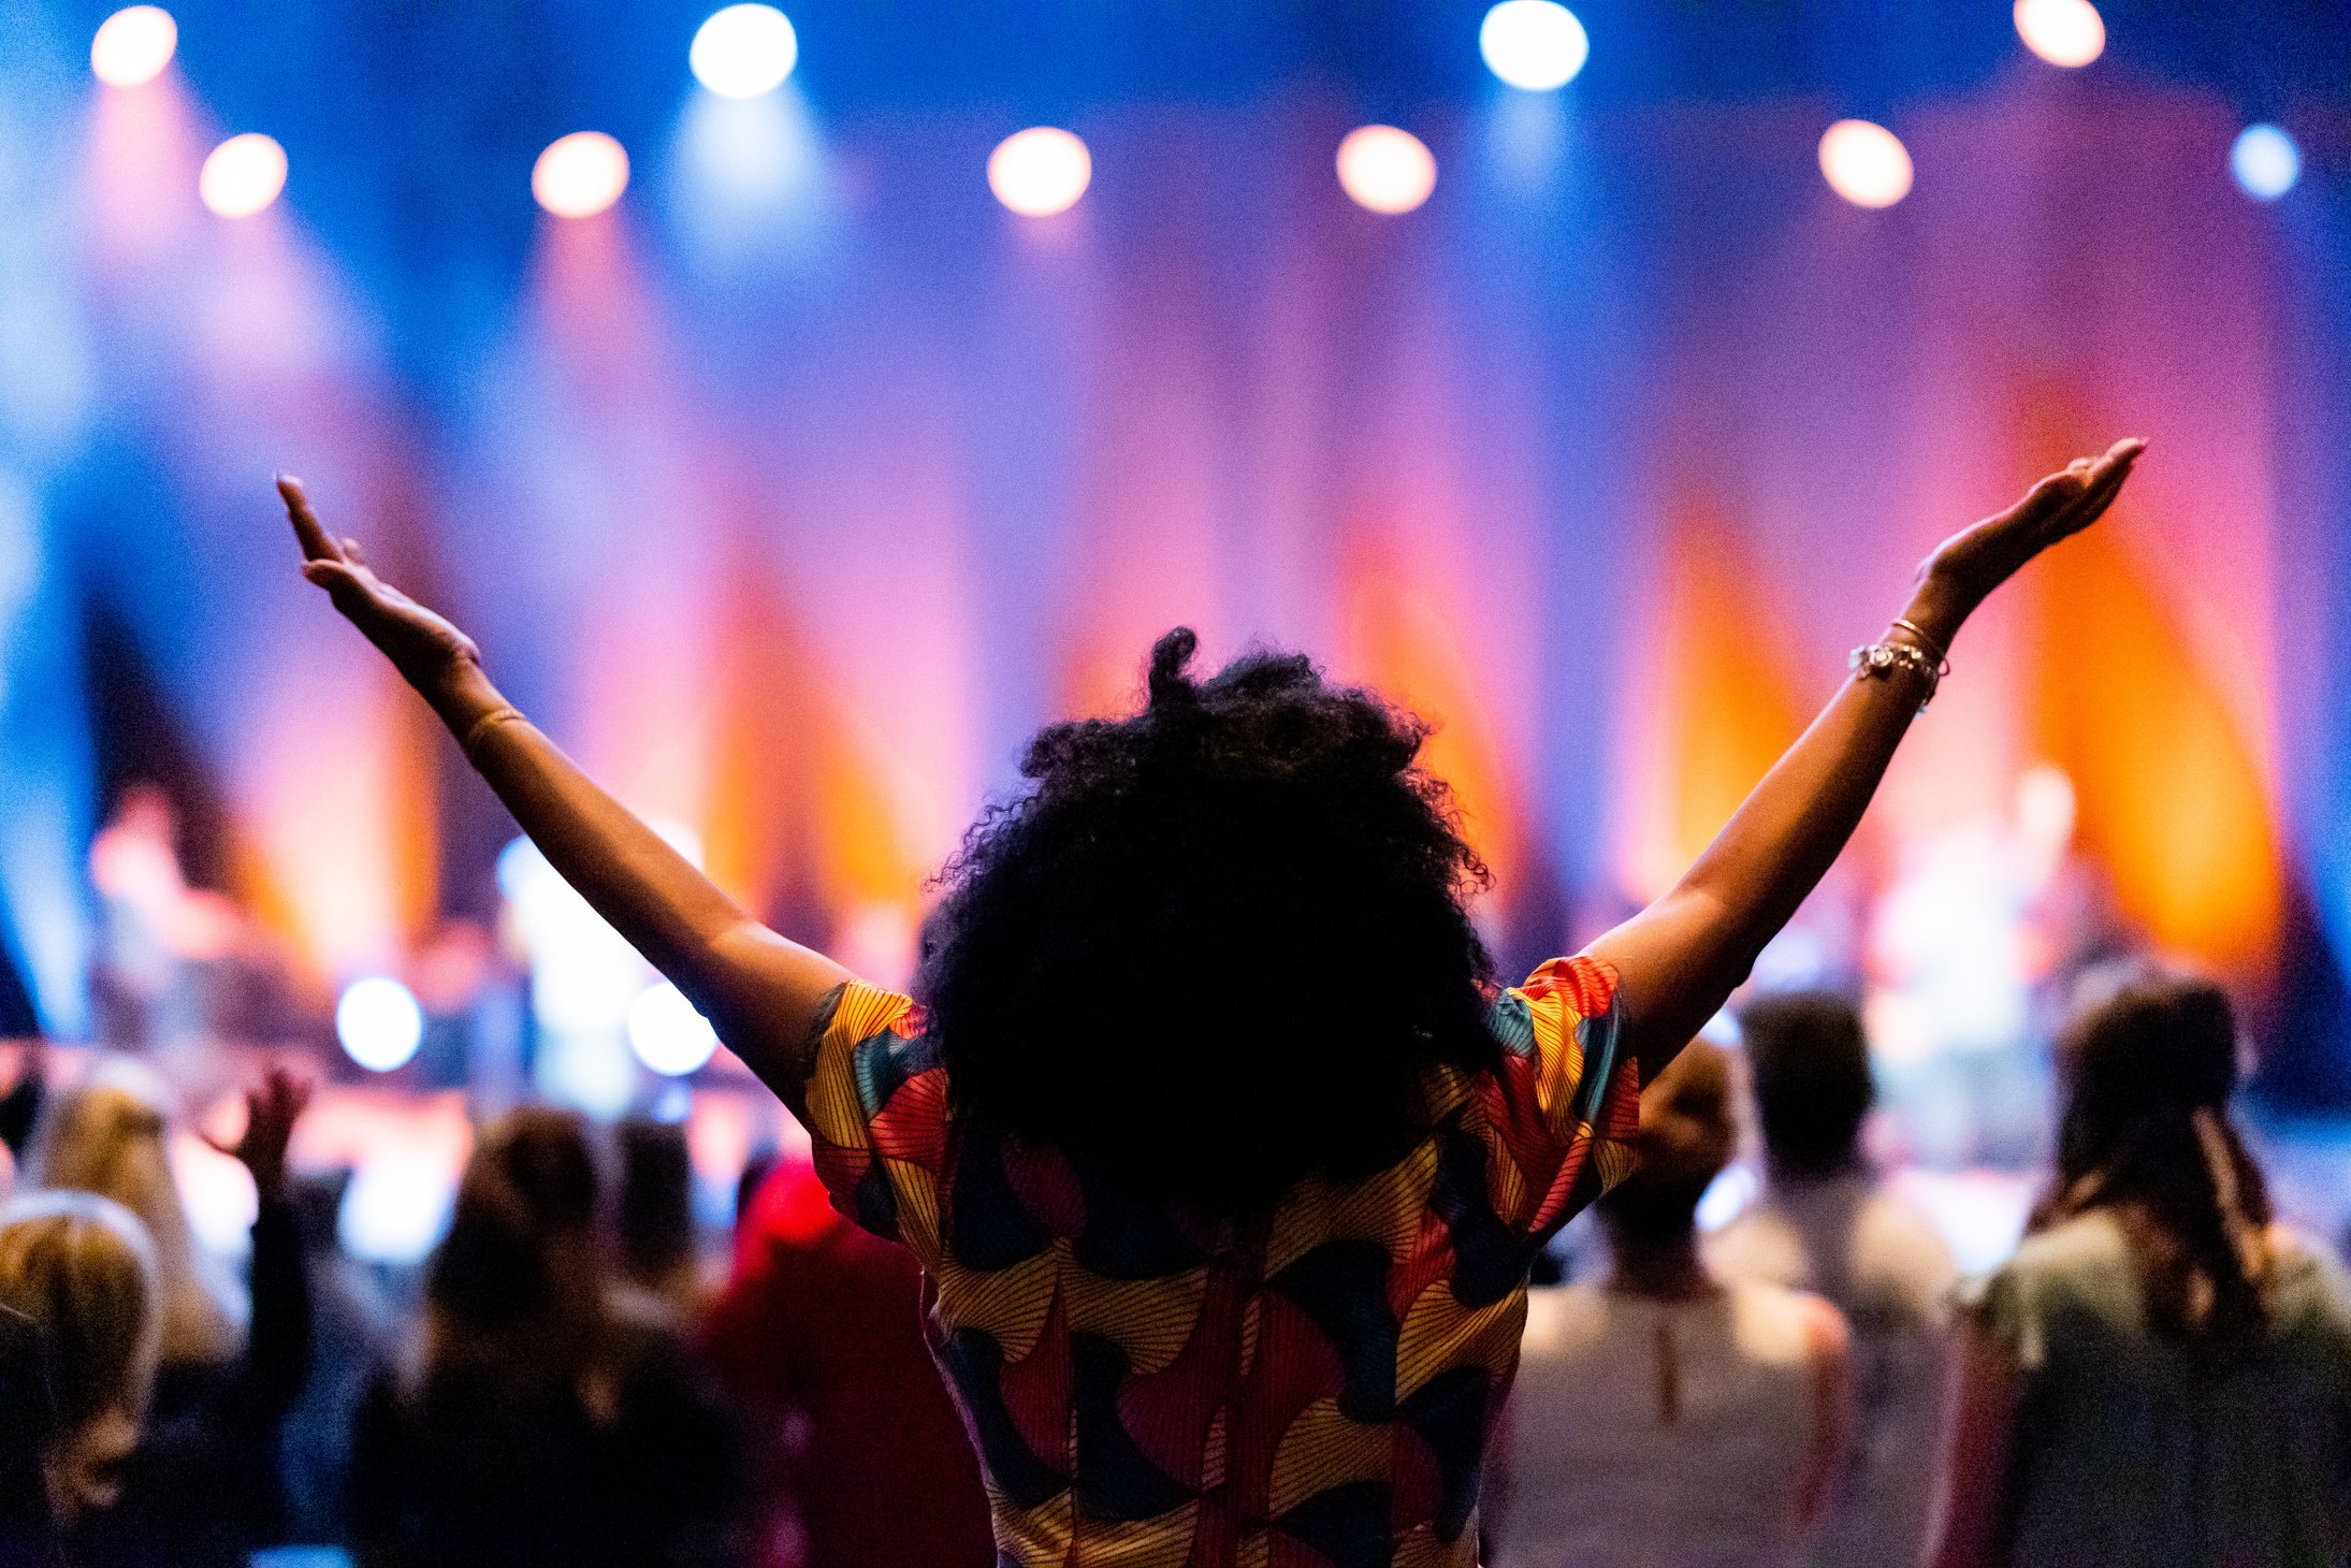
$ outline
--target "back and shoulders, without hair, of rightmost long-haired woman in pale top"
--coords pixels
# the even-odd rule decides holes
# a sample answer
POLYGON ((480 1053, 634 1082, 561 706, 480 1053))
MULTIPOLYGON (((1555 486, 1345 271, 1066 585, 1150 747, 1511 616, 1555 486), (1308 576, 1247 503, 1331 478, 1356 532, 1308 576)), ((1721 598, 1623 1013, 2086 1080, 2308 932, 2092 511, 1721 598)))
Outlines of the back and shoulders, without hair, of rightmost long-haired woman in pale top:
POLYGON ((2196 1345, 2149 1321, 2114 1211, 2038 1237, 1980 1326, 2022 1373, 2012 1563, 2335 1563, 2351 1521, 2351 1281, 2273 1232, 2269 1314, 2196 1345))

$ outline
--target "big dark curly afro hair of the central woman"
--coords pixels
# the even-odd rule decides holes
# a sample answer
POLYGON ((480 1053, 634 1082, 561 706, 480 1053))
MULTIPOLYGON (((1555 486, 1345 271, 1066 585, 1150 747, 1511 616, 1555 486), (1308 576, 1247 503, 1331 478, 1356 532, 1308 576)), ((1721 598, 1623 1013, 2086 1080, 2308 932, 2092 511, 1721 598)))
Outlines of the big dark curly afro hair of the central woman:
POLYGON ((1192 679, 1197 644, 1157 642, 1143 712, 1030 743, 943 872, 919 990, 959 1114, 1244 1213, 1385 1168, 1427 1067, 1495 1063, 1486 867, 1425 724, 1295 654, 1192 679))

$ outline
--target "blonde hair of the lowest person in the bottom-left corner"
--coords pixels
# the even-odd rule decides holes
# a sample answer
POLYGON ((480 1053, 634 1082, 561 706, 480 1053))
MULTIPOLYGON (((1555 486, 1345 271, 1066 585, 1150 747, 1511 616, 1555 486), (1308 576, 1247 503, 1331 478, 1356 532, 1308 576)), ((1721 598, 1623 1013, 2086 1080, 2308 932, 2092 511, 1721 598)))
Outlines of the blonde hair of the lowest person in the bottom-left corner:
POLYGON ((155 1385, 155 1251, 94 1192, 38 1192, 0 1208, 0 1305, 40 1326, 59 1427, 134 1418, 155 1385))

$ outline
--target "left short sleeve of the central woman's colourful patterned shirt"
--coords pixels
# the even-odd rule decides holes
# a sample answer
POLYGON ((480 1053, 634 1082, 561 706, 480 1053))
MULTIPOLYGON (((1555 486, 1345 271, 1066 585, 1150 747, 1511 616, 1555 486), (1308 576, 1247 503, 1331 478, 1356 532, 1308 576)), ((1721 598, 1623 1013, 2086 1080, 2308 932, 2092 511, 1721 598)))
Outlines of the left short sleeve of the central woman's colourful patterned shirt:
POLYGON ((947 1070, 915 1001, 856 980, 832 994, 809 1063, 809 1138, 835 1208, 938 1262, 947 1070))

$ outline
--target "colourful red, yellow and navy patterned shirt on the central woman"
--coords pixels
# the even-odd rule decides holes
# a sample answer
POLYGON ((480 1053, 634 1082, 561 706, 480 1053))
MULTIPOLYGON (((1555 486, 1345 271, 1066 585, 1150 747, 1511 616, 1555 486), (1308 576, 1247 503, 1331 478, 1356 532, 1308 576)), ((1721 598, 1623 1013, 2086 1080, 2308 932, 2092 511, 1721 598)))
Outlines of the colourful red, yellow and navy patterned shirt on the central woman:
POLYGON ((1432 1070, 1432 1131, 1399 1164, 1237 1222, 950 1117, 922 1011, 837 992, 816 1166, 922 1260, 1002 1563, 1476 1563, 1528 1267, 1625 1175, 1639 1126, 1615 971, 1554 959, 1491 1020, 1500 1067, 1432 1070))

